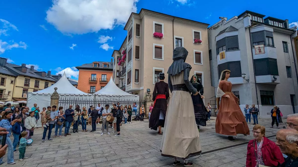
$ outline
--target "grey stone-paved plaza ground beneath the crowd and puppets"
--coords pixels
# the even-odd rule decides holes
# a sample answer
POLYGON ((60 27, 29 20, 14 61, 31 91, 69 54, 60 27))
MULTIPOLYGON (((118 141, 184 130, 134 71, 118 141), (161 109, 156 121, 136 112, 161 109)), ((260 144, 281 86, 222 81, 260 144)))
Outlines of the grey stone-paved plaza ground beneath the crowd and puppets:
MULTIPOLYGON (((206 127, 201 127, 200 139, 202 156, 192 160, 195 167, 244 167, 246 162, 247 142, 250 136, 240 135, 235 141, 229 141, 225 136, 215 133, 215 119, 207 122, 206 127), (242 145, 241 145, 242 144, 242 145), (235 146, 237 145, 237 146, 235 146), (228 148, 226 148, 228 147, 228 148), (222 149, 225 148, 225 149, 222 149), (218 150, 220 149, 220 150, 218 150)), ((269 128, 271 119, 260 119, 260 125, 266 127, 266 136, 275 135, 278 129, 269 128)), ((249 124, 250 130, 254 125, 249 124)), ((282 126, 280 126, 282 128, 282 126)), ((97 125, 97 131, 90 133, 91 126, 87 125, 88 132, 71 133, 72 135, 62 138, 53 138, 41 143, 43 128, 34 131, 32 146, 27 146, 24 161, 18 161, 19 153, 14 153, 16 164, 13 166, 28 167, 170 167, 173 160, 162 157, 160 144, 162 135, 148 128, 148 119, 144 122, 132 121, 131 124, 122 125, 121 136, 101 133, 101 125, 97 125)), ((72 129, 72 127, 71 127, 72 129)), ((53 129, 54 130, 54 129, 53 129)), ((63 128, 64 130, 64 128, 63 128)), ((47 139, 47 138, 46 138, 47 139)), ((270 138, 275 141, 275 136, 270 138)), ((13 140, 13 137, 11 137, 13 140)), ((3 159, 7 162, 7 155, 3 159)), ((11 166, 3 164, 1 166, 11 166)), ((179 165, 182 166, 182 165, 179 165)))

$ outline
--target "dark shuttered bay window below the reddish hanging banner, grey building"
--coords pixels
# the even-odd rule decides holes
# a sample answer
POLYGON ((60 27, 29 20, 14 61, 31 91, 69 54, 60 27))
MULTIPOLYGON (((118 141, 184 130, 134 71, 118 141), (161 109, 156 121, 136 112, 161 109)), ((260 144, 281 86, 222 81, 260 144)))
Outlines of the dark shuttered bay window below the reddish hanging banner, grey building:
POLYGON ((254 68, 255 75, 278 75, 276 59, 254 59, 254 68))

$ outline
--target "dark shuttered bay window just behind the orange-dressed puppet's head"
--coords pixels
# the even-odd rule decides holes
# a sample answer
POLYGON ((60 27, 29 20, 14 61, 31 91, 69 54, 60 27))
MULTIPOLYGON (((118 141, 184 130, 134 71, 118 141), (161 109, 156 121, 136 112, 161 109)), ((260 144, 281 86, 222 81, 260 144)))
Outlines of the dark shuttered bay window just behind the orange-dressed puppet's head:
POLYGON ((220 78, 221 72, 226 69, 231 71, 230 77, 241 77, 240 61, 218 64, 218 79, 220 78))

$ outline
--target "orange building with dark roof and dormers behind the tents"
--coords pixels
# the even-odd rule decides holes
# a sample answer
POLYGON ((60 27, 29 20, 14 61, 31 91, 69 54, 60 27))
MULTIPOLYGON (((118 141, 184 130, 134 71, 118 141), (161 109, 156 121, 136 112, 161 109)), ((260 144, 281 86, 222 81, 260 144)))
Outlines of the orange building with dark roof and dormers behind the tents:
POLYGON ((102 89, 113 76, 111 62, 92 62, 76 67, 79 70, 77 89, 86 93, 95 93, 102 89))

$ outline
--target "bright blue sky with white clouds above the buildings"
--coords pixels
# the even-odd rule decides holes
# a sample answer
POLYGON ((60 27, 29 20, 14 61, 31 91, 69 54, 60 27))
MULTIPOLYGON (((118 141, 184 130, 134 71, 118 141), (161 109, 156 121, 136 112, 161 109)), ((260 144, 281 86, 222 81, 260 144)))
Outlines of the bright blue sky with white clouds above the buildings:
POLYGON ((1 0, 0 57, 15 64, 33 64, 77 78, 74 68, 93 61, 111 61, 122 44, 123 25, 131 12, 141 8, 210 25, 245 10, 288 19, 298 26, 295 10, 280 1, 198 0, 1 0), (265 5, 266 4, 266 5, 265 5))

